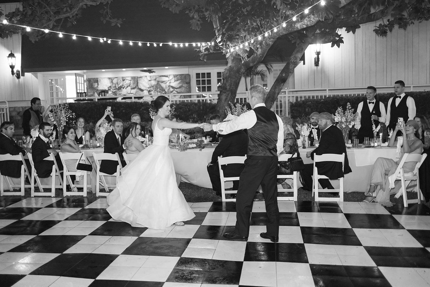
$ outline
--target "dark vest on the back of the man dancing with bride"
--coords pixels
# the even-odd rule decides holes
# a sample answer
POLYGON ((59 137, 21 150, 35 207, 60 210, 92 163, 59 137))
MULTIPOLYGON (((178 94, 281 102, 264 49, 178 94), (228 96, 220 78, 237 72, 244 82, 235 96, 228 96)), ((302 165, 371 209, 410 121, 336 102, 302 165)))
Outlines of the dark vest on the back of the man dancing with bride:
POLYGON ((277 156, 279 123, 267 107, 254 109, 257 122, 248 129, 248 156, 277 156))

